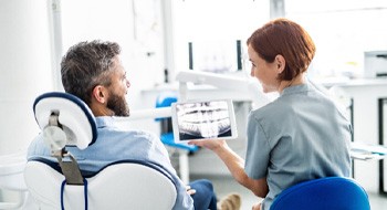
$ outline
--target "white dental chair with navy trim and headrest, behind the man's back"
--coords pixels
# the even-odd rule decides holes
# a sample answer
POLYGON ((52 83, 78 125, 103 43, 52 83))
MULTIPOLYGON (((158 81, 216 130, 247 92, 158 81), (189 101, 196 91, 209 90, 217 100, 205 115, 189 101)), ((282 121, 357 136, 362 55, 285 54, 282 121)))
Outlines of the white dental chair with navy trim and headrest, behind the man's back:
POLYGON ((27 188, 40 209, 174 207, 176 187, 158 166, 132 159, 94 174, 80 170, 66 147, 85 149, 97 140, 95 118, 83 101, 66 93, 46 93, 35 99, 33 111, 54 157, 30 159, 24 169, 27 188))

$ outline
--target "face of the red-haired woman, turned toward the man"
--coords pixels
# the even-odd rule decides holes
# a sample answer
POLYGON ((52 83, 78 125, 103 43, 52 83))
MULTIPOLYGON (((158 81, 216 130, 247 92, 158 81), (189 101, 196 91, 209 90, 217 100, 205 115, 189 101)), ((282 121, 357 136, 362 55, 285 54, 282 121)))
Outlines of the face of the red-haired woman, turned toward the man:
POLYGON ((279 71, 275 62, 264 61, 251 44, 248 46, 248 54, 251 62, 251 76, 260 81, 264 93, 276 92, 280 87, 280 81, 276 80, 279 71))

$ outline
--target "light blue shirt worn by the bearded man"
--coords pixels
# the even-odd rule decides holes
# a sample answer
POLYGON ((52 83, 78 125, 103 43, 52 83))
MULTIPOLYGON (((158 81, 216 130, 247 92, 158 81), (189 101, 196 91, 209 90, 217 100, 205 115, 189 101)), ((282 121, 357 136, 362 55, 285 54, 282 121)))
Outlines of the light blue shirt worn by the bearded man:
MULTIPOLYGON (((114 117, 96 117, 98 138, 84 150, 69 147, 80 168, 87 171, 98 171, 104 166, 124 159, 138 159, 163 166, 172 177, 177 188, 177 199, 174 210, 194 209, 194 200, 187 193, 185 183, 177 177, 170 164, 168 151, 154 134, 140 130, 126 130, 117 126, 114 117)), ((50 149, 39 135, 28 149, 28 158, 51 157, 50 149)), ((163 193, 163 192, 161 192, 163 193)))

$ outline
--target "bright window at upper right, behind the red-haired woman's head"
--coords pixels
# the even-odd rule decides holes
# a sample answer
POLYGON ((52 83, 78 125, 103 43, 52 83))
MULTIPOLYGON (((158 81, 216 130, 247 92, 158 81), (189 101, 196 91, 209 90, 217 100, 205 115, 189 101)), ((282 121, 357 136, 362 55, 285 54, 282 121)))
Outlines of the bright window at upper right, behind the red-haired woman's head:
POLYGON ((364 54, 387 50, 387 1, 291 0, 286 18, 311 34, 317 52, 310 73, 317 78, 360 77, 364 54))

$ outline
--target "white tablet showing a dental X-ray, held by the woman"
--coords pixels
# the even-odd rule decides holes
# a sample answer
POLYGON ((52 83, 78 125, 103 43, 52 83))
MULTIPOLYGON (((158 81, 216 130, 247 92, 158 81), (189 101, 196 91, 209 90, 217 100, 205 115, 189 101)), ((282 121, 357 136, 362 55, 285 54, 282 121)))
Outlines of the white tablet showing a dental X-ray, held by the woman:
POLYGON ((171 108, 176 143, 238 137, 231 99, 180 102, 171 108))

